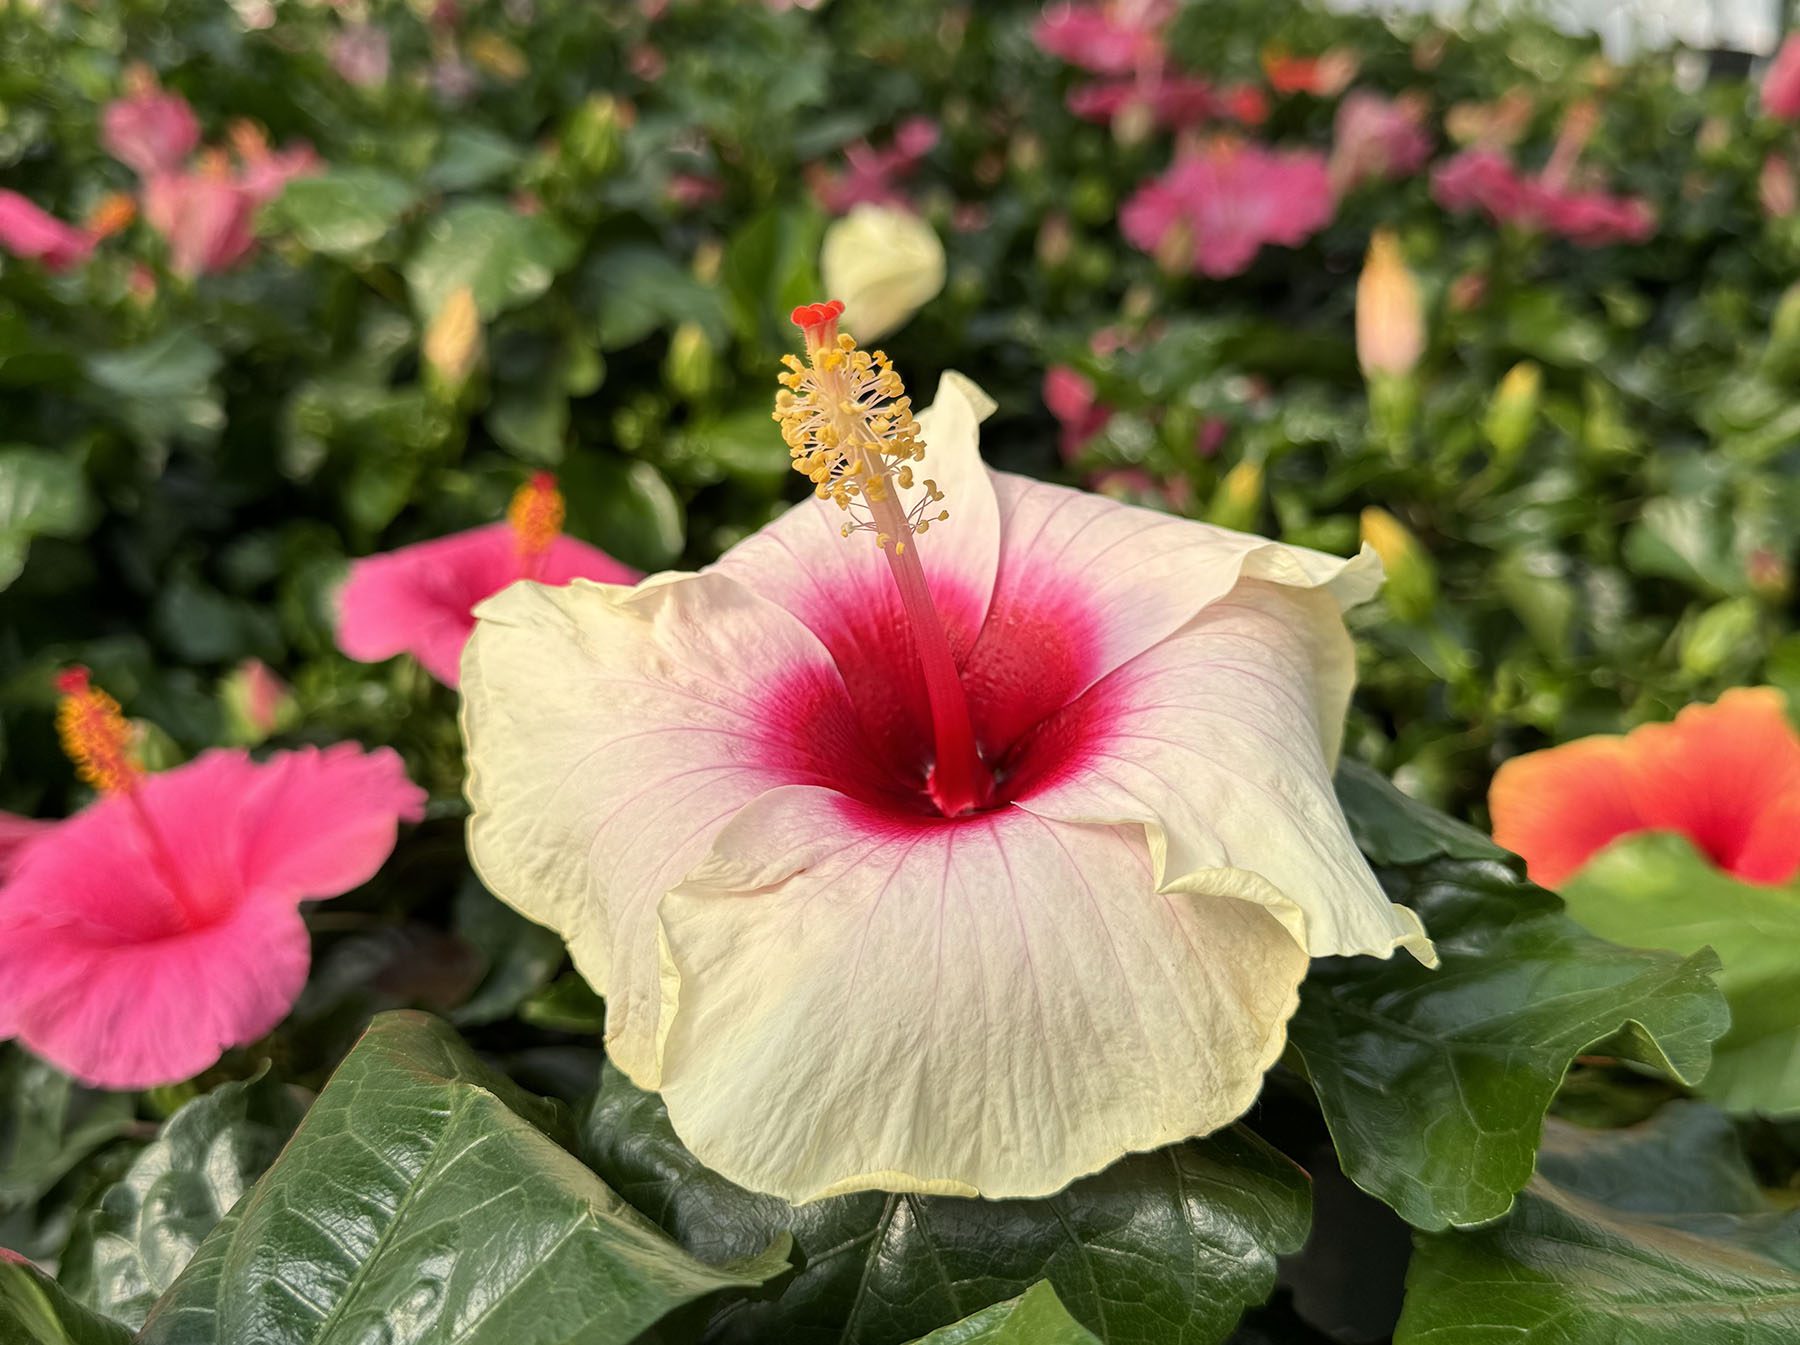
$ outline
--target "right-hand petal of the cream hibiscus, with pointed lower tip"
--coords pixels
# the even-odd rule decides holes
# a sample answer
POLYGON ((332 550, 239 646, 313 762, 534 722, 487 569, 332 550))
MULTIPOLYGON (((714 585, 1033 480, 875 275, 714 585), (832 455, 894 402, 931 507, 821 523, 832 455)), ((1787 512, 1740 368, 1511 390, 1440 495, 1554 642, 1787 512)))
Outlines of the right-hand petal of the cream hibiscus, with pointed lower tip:
POLYGON ((1037 729, 1075 745, 1013 796, 1044 817, 1141 825, 1159 891, 1267 906, 1312 956, 1406 947, 1435 963, 1332 790, 1352 659, 1328 591, 1244 580, 1037 729))

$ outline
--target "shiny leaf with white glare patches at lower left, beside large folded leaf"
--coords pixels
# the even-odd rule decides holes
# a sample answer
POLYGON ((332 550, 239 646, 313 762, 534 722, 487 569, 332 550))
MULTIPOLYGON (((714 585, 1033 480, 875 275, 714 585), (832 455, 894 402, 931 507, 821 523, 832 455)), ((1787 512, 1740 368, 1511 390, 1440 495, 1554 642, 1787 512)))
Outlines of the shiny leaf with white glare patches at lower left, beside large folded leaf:
POLYGON ((151 1304, 274 1161, 304 1111, 266 1073, 184 1106, 77 1226, 63 1284, 88 1307, 144 1325, 151 1304))

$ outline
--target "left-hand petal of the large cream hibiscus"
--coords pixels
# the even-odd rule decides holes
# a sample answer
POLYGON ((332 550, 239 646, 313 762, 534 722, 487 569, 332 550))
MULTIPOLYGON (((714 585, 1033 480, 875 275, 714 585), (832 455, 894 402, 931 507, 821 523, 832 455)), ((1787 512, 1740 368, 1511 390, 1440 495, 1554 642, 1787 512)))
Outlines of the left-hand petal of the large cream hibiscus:
POLYGON ((637 589, 518 583, 479 609, 463 659, 470 853, 562 933, 607 996, 607 1044, 655 1088, 655 904, 767 789, 857 751, 823 645, 724 574, 637 589))

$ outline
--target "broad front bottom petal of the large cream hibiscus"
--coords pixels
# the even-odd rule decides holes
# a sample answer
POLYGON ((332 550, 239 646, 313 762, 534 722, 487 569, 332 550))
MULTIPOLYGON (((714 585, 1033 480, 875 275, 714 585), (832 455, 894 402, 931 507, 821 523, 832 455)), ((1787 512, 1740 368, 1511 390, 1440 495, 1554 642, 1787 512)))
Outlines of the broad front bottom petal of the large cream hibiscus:
POLYGON ((788 1201, 1048 1196, 1217 1129, 1305 972, 1267 911, 1159 897, 1138 828, 907 825, 808 787, 745 808, 662 925, 670 1118, 788 1201))

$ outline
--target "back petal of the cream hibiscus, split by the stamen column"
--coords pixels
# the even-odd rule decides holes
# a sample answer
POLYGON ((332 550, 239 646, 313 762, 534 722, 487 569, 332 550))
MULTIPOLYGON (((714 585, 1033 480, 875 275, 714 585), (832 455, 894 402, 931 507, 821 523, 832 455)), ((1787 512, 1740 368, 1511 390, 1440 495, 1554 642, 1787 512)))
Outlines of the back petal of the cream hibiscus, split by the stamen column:
MULTIPOLYGON (((945 493, 949 522, 920 538, 925 580, 958 659, 981 630, 999 562, 1001 522, 994 484, 981 465, 979 427, 994 402, 959 373, 947 373, 938 398, 918 416, 925 441, 920 481, 945 493)), ((905 614, 887 565, 868 533, 842 535, 844 513, 830 501, 803 501, 745 538, 711 567, 774 600, 832 652, 851 697, 864 708, 884 753, 905 756, 931 742, 931 715, 914 670, 905 614)))

